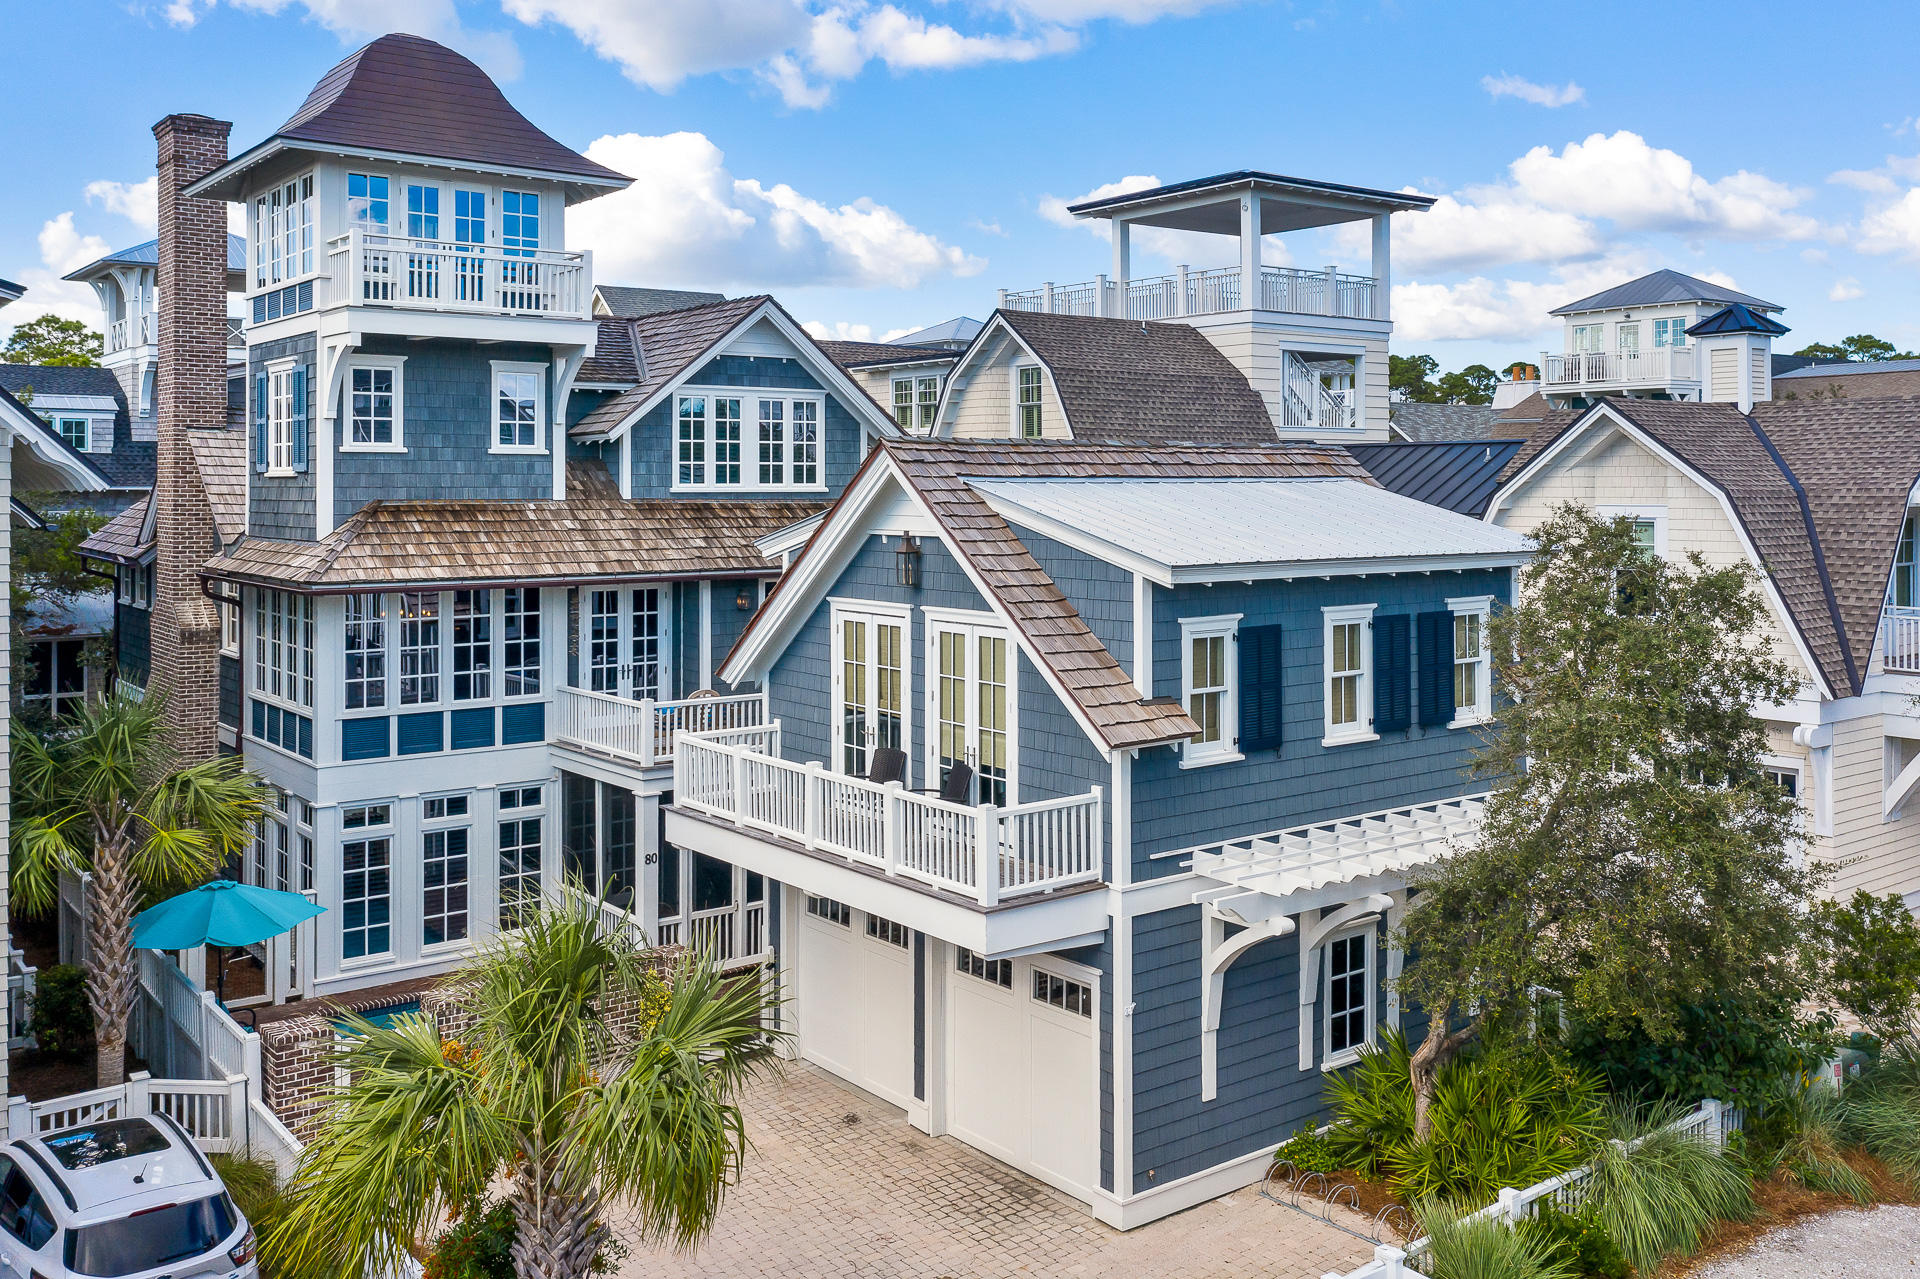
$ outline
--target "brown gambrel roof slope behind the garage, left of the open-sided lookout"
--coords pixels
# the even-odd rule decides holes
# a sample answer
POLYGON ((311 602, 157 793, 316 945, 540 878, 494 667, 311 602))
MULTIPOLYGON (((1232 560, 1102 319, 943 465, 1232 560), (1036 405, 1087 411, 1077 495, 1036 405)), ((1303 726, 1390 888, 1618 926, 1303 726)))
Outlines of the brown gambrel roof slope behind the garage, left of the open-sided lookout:
POLYGON ((995 317, 1046 365, 1079 442, 1275 444, 1279 438, 1260 392, 1192 325, 1039 311, 995 311, 995 317))

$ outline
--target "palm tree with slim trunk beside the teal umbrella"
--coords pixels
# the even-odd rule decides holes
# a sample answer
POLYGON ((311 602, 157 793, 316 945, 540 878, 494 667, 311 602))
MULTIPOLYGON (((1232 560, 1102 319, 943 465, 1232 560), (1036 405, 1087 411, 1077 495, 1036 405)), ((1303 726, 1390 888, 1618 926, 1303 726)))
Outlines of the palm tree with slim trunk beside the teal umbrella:
POLYGON ((60 899, 60 872, 92 872, 86 999, 100 1087, 115 1087, 127 1074, 132 916, 142 895, 213 876, 246 847, 263 799, 238 757, 179 768, 157 693, 113 693, 17 739, 13 903, 40 914, 60 899))

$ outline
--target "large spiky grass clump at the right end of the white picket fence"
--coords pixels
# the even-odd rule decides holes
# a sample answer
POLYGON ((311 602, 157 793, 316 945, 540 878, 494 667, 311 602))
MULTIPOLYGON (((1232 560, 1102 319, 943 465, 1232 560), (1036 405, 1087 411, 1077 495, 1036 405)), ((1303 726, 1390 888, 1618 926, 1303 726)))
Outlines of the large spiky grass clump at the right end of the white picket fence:
POLYGON ((1747 1170, 1709 1141, 1676 1133, 1672 1106, 1615 1110, 1613 1141, 1594 1148, 1590 1202, 1626 1262, 1653 1273, 1661 1258, 1692 1256, 1715 1221, 1753 1216, 1747 1170))

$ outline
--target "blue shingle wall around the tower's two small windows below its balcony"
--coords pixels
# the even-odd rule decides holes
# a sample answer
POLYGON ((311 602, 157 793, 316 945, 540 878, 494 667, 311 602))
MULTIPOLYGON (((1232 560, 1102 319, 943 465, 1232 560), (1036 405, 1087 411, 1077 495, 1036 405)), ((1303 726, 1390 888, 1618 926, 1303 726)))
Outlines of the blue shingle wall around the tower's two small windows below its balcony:
MULTIPOLYGON (((549 363, 549 348, 369 338, 359 353, 407 357, 401 374, 401 438, 407 451, 334 455, 336 524, 376 497, 524 501, 553 495, 549 453, 488 451, 493 442, 492 361, 549 363)), ((336 430, 349 430, 346 413, 336 430)))

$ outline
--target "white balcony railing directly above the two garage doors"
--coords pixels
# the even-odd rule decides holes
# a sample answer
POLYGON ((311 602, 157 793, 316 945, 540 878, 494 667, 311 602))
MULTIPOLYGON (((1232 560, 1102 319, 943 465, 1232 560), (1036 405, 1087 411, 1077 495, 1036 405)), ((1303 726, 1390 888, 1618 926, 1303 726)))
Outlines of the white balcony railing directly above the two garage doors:
MULTIPOLYGON (((768 741, 778 741, 778 720, 768 741)), ((741 734, 745 736, 745 734, 741 734)), ((778 749, 772 747, 772 749, 778 749)), ((954 805, 682 734, 674 805, 993 906, 1100 880, 1100 787, 1031 805, 954 805)))

